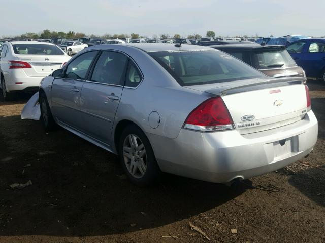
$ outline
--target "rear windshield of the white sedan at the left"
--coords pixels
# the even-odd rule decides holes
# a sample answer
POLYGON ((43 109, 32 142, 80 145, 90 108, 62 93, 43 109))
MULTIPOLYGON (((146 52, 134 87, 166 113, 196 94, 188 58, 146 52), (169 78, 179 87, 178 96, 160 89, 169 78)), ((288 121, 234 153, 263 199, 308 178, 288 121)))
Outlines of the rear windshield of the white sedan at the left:
POLYGON ((57 46, 46 44, 14 44, 16 54, 28 55, 64 55, 65 53, 57 46))

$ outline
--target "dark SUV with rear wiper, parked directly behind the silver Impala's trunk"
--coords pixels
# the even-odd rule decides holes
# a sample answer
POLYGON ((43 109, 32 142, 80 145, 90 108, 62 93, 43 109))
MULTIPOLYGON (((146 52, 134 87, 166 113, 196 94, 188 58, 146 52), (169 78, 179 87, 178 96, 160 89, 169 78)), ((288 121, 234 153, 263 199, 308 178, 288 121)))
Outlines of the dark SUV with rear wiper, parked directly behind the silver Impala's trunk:
POLYGON ((306 77, 285 46, 239 44, 210 47, 229 53, 271 77, 306 77))

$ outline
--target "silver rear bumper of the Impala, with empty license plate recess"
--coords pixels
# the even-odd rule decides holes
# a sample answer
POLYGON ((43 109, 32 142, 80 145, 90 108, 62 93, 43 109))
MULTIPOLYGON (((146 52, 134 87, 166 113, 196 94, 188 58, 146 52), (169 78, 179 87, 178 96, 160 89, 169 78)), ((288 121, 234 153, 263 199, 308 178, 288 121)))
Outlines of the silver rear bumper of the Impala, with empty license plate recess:
POLYGON ((186 129, 175 139, 147 135, 162 171, 226 183, 275 171, 301 159, 312 151, 317 132, 317 119, 309 111, 296 123, 245 135, 236 130, 201 133, 186 129))

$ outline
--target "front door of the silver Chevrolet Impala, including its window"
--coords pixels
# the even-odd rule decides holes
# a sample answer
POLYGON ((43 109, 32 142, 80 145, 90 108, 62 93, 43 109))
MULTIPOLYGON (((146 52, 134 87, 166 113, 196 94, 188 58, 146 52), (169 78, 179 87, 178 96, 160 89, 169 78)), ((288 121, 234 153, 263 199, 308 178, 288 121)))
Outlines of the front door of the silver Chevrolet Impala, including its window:
POLYGON ((69 62, 62 78, 51 88, 52 113, 64 125, 80 130, 80 94, 97 50, 83 53, 69 62))

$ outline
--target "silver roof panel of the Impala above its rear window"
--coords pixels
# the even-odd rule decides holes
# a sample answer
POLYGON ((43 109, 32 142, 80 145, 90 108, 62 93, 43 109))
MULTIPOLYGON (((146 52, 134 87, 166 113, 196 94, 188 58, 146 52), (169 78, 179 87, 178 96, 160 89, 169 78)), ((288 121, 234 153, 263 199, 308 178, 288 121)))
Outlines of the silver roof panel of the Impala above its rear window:
POLYGON ((123 46, 131 46, 141 49, 145 52, 177 51, 177 50, 211 50, 209 47, 183 44, 177 47, 177 44, 167 43, 125 43, 123 46))

